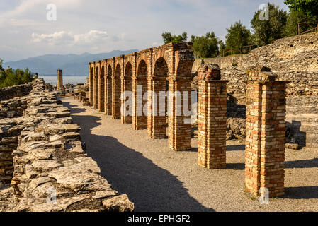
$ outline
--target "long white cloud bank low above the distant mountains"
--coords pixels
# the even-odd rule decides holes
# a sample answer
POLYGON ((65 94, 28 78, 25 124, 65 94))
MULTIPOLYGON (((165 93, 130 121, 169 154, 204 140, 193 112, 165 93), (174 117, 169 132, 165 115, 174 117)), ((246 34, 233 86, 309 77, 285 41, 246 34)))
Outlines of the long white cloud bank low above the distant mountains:
POLYGON ((31 42, 46 42, 50 45, 60 44, 96 44, 101 42, 108 37, 106 31, 101 30, 90 30, 84 34, 74 35, 72 32, 60 31, 52 34, 32 34, 31 42))

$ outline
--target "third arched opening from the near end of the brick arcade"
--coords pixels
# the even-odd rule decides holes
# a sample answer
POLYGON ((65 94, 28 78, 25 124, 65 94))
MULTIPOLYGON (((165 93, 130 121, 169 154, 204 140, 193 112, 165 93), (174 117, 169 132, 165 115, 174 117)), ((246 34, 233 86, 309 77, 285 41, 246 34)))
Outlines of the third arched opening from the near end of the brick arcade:
POLYGON ((127 62, 125 66, 125 73, 122 79, 121 92, 123 93, 123 100, 121 100, 122 109, 121 121, 123 124, 132 123, 132 64, 127 62), (126 102, 128 101, 129 102, 126 102), (128 104, 128 105, 127 105, 128 104))

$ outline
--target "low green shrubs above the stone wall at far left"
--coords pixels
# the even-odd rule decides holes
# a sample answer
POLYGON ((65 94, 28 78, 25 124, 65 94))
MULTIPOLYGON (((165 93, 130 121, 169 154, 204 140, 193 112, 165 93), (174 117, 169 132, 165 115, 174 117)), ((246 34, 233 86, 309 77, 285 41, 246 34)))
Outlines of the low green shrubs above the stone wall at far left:
POLYGON ((26 68, 25 70, 12 68, 4 69, 2 67, 3 60, 0 59, 0 87, 20 85, 33 81, 31 71, 26 68))

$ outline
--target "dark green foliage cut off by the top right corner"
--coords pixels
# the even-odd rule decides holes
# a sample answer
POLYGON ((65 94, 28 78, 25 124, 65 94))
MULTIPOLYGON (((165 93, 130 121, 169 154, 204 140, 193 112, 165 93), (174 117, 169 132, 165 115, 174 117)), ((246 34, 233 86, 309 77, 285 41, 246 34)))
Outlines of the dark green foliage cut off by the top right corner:
POLYGON ((310 18, 318 16, 317 0, 286 0, 284 3, 290 10, 305 13, 310 18))

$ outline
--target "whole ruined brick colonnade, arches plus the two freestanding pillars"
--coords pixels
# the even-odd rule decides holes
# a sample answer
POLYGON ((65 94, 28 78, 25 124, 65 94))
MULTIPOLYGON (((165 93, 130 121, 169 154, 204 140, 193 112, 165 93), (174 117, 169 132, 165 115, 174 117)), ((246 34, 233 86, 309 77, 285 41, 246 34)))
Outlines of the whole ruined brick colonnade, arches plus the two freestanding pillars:
MULTIPOLYGON (((172 150, 191 149, 191 44, 170 43, 120 57, 89 63, 89 101, 93 107, 133 129, 147 129, 150 138, 166 137, 172 150), (168 87, 168 89, 167 89, 168 87), (169 90, 163 100, 160 93, 169 90), (131 91, 132 97, 124 95, 131 91), (144 93, 147 92, 146 96, 144 93), (176 92, 187 93, 171 95, 176 92), (132 109, 124 103, 132 98, 132 109), (188 99, 188 100, 186 100, 188 99), (165 103, 164 109, 159 108, 165 103), (146 105, 147 104, 147 105, 146 105), (180 106, 182 105, 182 114, 180 106), (179 112, 178 112, 179 111, 179 112), (167 114, 169 112, 169 114, 167 114)), ((246 191, 259 196, 284 194, 285 81, 268 68, 248 71, 246 88, 246 191)), ((226 168, 227 82, 217 64, 198 69, 198 165, 226 168)))

